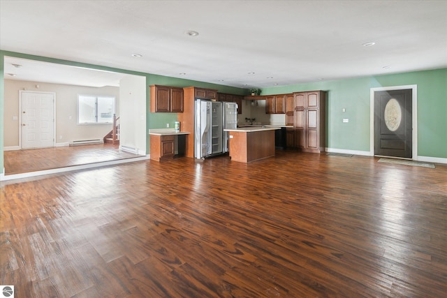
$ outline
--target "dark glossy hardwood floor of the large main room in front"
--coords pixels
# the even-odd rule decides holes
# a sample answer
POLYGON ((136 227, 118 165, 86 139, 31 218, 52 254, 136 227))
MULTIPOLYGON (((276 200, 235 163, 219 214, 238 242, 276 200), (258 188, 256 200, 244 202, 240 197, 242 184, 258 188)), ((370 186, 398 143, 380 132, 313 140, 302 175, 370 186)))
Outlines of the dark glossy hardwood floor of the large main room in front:
POLYGON ((277 151, 1 186, 15 297, 446 297, 447 165, 277 151))

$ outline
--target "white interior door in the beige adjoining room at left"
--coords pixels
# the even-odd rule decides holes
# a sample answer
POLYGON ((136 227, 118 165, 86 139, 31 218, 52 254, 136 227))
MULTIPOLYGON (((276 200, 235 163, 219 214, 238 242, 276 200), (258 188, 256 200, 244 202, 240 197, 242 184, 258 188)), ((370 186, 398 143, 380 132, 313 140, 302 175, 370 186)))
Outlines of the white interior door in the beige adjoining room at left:
POLYGON ((22 149, 54 146, 54 93, 20 91, 22 149))

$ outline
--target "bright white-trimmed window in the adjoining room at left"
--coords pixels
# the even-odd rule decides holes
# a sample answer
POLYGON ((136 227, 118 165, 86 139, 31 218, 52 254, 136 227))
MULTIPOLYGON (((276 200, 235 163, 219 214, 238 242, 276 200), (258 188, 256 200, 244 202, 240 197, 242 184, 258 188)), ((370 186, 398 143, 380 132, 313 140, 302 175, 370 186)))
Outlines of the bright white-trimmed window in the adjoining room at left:
POLYGON ((78 124, 112 124, 115 97, 78 95, 78 124))

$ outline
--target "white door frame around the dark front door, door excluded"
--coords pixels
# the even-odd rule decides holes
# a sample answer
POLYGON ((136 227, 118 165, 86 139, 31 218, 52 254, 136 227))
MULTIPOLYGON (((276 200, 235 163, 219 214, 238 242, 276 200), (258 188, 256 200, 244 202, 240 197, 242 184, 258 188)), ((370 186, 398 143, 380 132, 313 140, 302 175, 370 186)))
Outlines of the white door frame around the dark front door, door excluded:
POLYGON ((403 85, 403 86, 392 86, 392 87, 376 87, 369 89, 369 100, 370 100, 370 119, 369 119, 369 155, 374 156, 374 93, 376 91, 390 91, 390 90, 400 90, 400 89, 411 89, 412 90, 412 153, 411 159, 414 161, 418 160, 418 85, 403 85))

